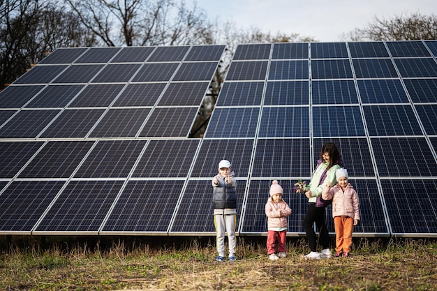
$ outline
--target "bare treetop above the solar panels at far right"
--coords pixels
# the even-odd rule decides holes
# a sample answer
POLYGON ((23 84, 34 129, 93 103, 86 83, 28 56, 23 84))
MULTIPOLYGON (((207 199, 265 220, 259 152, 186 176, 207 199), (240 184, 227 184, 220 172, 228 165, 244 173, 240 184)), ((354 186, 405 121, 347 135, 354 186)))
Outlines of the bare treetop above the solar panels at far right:
POLYGON ((343 40, 431 40, 437 39, 437 16, 412 13, 390 18, 375 17, 364 29, 343 34, 343 40))

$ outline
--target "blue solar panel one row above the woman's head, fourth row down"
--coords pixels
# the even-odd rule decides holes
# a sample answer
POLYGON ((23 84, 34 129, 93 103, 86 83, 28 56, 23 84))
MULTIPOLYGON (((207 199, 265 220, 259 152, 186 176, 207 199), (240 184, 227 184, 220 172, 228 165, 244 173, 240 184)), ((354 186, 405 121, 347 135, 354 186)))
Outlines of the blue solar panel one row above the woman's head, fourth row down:
POLYGON ((364 136, 360 107, 313 107, 313 136, 364 136))

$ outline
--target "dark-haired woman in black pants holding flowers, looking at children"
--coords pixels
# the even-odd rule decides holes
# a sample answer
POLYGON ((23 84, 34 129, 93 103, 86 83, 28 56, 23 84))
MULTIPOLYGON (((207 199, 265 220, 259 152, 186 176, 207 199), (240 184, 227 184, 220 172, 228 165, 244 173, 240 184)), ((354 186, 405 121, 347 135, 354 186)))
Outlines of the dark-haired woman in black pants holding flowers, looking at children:
POLYGON ((322 195, 323 188, 330 182, 331 185, 336 183, 335 171, 341 166, 341 154, 333 142, 323 144, 320 151, 320 160, 316 170, 313 172, 311 182, 307 186, 308 191, 305 195, 308 197, 308 210, 306 211, 302 226, 306 232, 309 247, 311 252, 304 257, 306 259, 320 259, 331 258, 331 251, 329 249, 329 233, 325 223, 325 209, 326 207, 317 207, 317 197, 322 195), (320 244, 323 246, 323 250, 317 252, 317 237, 314 232, 313 224, 316 223, 318 232, 320 232, 320 244))

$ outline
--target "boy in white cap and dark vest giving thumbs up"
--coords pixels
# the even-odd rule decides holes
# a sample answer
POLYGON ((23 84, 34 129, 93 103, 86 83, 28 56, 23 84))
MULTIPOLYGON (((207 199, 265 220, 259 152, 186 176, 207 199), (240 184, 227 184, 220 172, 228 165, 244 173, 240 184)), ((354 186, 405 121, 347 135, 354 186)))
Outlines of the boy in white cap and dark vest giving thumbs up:
POLYGON ((230 162, 222 160, 218 163, 218 174, 212 179, 214 225, 217 232, 217 261, 223 262, 225 257, 225 232, 228 233, 229 260, 235 261, 235 223, 237 220, 237 195, 235 194, 234 172, 230 170, 230 162))

